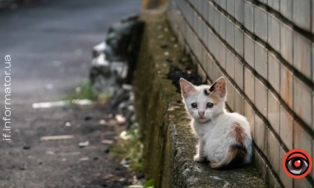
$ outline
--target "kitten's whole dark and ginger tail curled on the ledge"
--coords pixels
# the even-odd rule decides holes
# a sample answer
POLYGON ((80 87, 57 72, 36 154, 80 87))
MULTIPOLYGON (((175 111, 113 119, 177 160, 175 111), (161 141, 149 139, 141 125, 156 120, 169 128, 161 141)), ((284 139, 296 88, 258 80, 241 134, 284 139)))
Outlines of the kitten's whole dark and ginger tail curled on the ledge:
POLYGON ((244 160, 248 152, 243 145, 232 145, 228 150, 227 157, 221 162, 211 163, 211 169, 233 169, 244 164, 244 160))

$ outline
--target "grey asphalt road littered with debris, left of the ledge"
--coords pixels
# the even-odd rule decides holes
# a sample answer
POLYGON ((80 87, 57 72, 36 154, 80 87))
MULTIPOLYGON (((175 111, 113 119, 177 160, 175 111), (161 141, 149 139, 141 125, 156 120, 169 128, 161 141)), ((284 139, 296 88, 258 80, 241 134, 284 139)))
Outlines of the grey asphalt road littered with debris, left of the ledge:
MULTIPOLYGON (((123 129, 110 123, 109 114, 114 113, 110 107, 33 109, 31 104, 68 95, 87 78, 91 47, 103 41, 110 24, 139 11, 140 0, 43 0, 0 10, 0 83, 4 84, 4 56, 10 55, 12 127, 12 141, 0 139, 0 187, 122 187, 130 183, 132 175, 107 155, 110 145, 101 143, 114 141, 123 129), (40 141, 42 136, 65 134, 74 139, 40 141), (78 148, 82 141, 89 141, 89 146, 78 148), (108 179, 108 175, 113 176, 108 179)), ((0 125, 4 127, 4 121, 0 125)))

